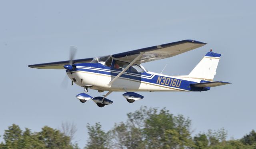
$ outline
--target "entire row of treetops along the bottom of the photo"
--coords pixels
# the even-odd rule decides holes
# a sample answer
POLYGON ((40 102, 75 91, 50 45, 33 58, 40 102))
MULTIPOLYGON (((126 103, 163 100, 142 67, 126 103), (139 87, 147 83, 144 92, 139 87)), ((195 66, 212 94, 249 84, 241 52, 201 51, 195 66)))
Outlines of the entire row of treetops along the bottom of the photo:
MULTIPOLYGON (((192 137, 191 120, 165 108, 141 107, 127 117, 109 131, 102 130, 100 123, 88 124, 89 139, 84 149, 256 149, 254 130, 241 139, 227 140, 223 128, 192 137)), ((0 149, 78 149, 72 143, 75 131, 74 125, 62 124, 62 130, 45 126, 32 133, 13 124, 5 130, 0 149)))

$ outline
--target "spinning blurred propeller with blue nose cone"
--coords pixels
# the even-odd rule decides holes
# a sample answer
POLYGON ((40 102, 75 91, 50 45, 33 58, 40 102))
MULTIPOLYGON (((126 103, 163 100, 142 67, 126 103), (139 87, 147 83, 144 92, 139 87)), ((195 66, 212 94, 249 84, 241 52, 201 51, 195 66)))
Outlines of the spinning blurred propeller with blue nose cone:
MULTIPOLYGON (((76 55, 77 48, 75 46, 70 46, 69 51, 70 51, 69 62, 68 62, 68 65, 64 66, 64 68, 66 70, 74 69, 73 60, 74 60, 74 57, 76 55)), ((69 80, 68 75, 65 75, 65 77, 63 78, 62 83, 61 83, 61 86, 63 88, 67 88, 68 87, 68 80, 69 80)), ((73 83, 72 83, 72 85, 73 85, 73 83)))

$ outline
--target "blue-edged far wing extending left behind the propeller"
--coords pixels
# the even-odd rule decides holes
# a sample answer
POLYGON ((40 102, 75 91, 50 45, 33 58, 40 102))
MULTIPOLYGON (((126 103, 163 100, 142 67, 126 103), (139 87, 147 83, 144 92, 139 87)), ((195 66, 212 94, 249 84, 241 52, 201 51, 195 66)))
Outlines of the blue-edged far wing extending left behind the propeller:
MULTIPOLYGON (((76 63, 89 63, 93 58, 85 58, 79 60, 73 60, 73 64, 76 63)), ((52 62, 52 63, 44 63, 44 64, 35 64, 29 65, 30 68, 39 68, 39 69, 65 69, 63 66, 69 64, 70 61, 61 61, 61 62, 52 62)))

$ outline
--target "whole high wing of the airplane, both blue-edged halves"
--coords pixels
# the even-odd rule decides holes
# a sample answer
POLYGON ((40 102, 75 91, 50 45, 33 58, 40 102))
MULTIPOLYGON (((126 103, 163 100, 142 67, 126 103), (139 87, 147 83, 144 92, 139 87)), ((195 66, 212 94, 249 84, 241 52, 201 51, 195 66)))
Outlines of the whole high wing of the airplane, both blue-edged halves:
MULTIPOLYGON (((195 40, 182 40, 179 42, 172 42, 169 44, 162 44, 158 46, 142 48, 142 49, 123 52, 119 54, 113 54, 112 57, 117 60, 132 62, 135 58, 138 57, 140 53, 142 53, 140 58, 136 60, 136 62, 134 62, 137 64, 141 64, 141 63, 150 62, 154 60, 170 58, 172 56, 176 56, 178 54, 188 52, 195 48, 199 48, 201 46, 204 46, 205 44, 206 43, 198 42, 195 40)), ((73 64, 89 63, 92 60, 93 58, 73 60, 73 64)), ((28 67, 39 68, 39 69, 65 69, 63 66, 69 64, 69 62, 70 61, 61 61, 61 62, 52 62, 52 63, 44 63, 44 64, 35 64, 35 65, 29 65, 28 67)))

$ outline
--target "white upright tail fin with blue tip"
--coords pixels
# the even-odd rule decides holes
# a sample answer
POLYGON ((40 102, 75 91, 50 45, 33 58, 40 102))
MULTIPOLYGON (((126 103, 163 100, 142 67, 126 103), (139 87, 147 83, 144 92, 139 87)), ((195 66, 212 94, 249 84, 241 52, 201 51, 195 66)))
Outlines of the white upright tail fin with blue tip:
POLYGON ((213 81, 221 54, 208 52, 196 67, 188 74, 188 77, 213 81))

